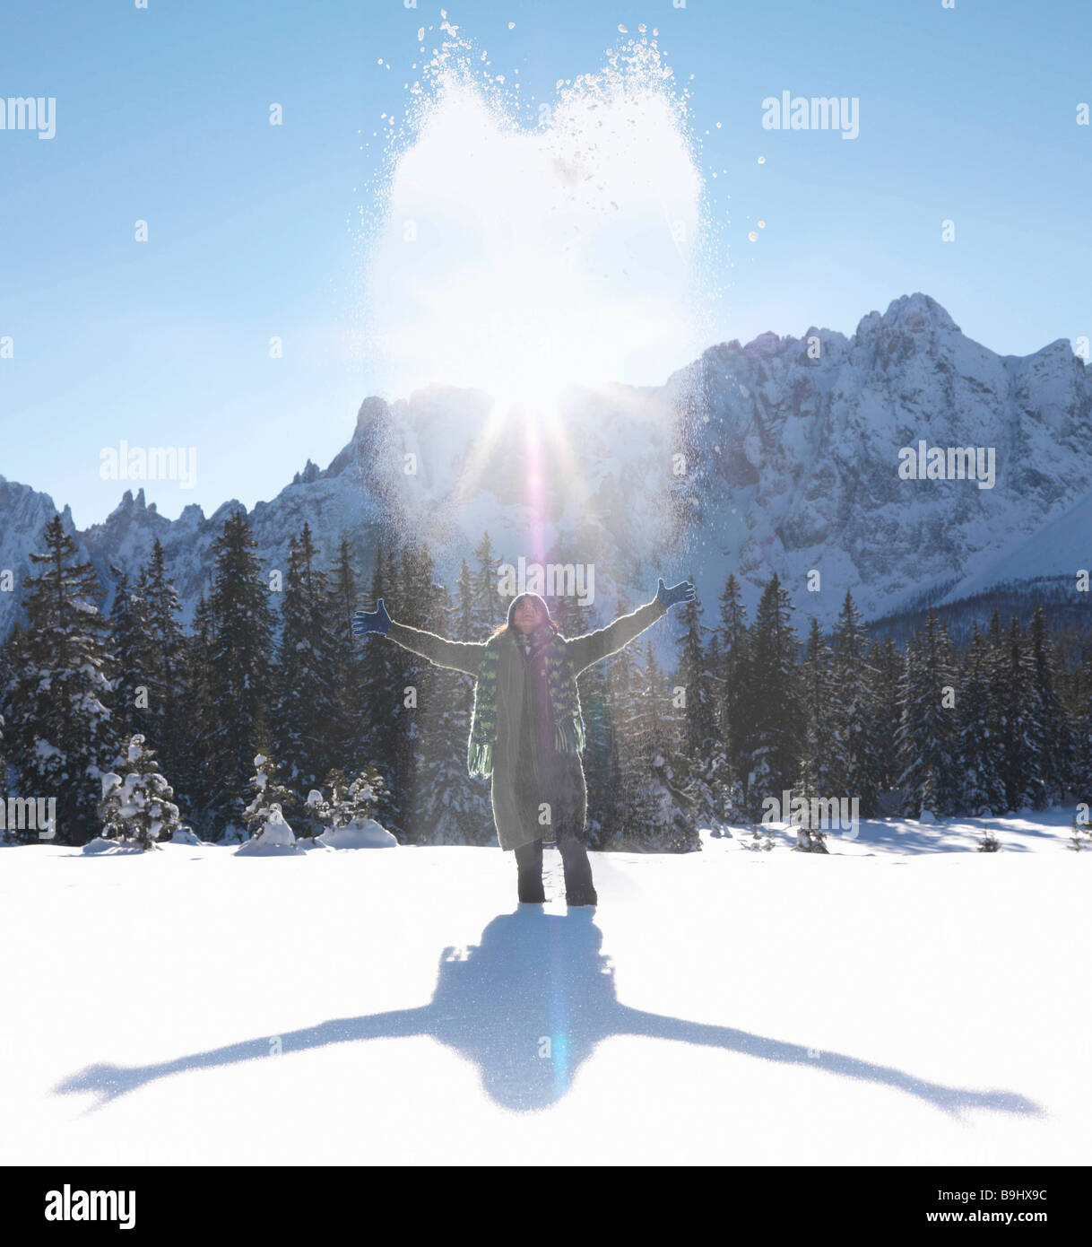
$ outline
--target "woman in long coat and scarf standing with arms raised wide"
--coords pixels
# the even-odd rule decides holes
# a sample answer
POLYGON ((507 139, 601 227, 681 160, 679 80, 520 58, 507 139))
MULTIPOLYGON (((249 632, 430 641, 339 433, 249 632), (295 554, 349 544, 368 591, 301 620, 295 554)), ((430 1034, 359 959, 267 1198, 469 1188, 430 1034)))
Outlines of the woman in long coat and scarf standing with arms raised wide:
POLYGON ((438 667, 476 678, 474 718, 466 751, 471 776, 491 776, 492 817, 504 850, 519 868, 519 897, 541 903, 542 838, 555 840, 565 865, 565 899, 595 905, 591 863, 585 848, 587 787, 580 753, 583 720, 576 677, 617 653, 676 602, 694 599, 682 581, 607 627, 571 640, 561 636, 537 594, 521 594, 509 606, 507 622, 489 641, 446 641, 398 624, 379 599, 374 611, 357 611, 353 635, 380 632, 438 667))

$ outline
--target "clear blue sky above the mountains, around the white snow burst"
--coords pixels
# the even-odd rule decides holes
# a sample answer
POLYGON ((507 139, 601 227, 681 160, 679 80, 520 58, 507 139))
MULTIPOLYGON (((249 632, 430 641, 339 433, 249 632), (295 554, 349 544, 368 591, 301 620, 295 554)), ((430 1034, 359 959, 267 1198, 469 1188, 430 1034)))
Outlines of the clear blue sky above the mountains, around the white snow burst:
MULTIPOLYGON (((711 342, 812 324, 850 334, 912 291, 1005 354, 1092 335, 1092 127, 1076 123, 1092 102, 1086 5, 448 11, 539 100, 600 69, 620 24, 658 27, 691 91, 701 168, 718 172, 711 342), (762 101, 783 90, 859 99, 859 136, 763 130, 762 101), (955 242, 941 242, 945 218, 955 242)), ((0 131, 0 339, 14 343, 0 359, 2 475, 86 526, 125 489, 100 478, 103 448, 196 446, 196 486, 148 481, 148 500, 170 516, 253 505, 308 458, 325 466, 366 395, 401 397, 352 347, 360 221, 383 209, 371 133, 401 112, 416 30, 439 12, 424 0, 5 0, 0 97, 55 97, 56 133, 0 131)))

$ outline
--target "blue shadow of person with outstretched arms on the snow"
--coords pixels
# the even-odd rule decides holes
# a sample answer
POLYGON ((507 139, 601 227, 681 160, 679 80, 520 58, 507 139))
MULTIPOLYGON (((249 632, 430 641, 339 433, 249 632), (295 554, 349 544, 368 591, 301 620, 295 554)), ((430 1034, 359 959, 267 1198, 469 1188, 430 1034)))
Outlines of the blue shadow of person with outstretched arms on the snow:
MULTIPOLYGON (((602 1040, 643 1035, 876 1082, 917 1096, 951 1116, 970 1109, 1042 1112, 1015 1092, 945 1086, 841 1052, 809 1057, 802 1044, 631 1009, 616 999, 613 970, 600 953, 601 944, 590 909, 556 915, 529 907, 499 915, 465 959, 455 949, 444 950, 429 1004, 289 1031, 280 1036, 282 1054, 357 1040, 431 1035, 477 1066, 482 1086, 497 1105, 527 1112, 561 1100, 581 1062, 602 1040), (544 1056, 546 1036, 548 1055, 544 1056)), ((91 1112, 155 1079, 268 1059, 268 1054, 269 1036, 263 1035, 155 1065, 91 1065, 65 1079, 54 1094, 93 1092, 97 1100, 89 1107, 91 1112)))

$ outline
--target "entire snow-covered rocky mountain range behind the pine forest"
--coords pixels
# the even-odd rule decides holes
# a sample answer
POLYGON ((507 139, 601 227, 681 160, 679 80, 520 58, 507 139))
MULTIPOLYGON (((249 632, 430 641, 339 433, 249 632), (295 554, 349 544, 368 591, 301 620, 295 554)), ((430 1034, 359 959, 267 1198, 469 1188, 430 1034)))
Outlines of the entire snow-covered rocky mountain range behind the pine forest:
MULTIPOLYGON (((661 571, 693 572, 709 605, 729 571, 752 605, 777 571, 805 614, 829 621, 850 589, 874 617, 1041 575, 1045 557, 1071 576, 1090 433, 1092 377, 1066 339, 997 355, 917 293, 870 312, 853 338, 810 328, 724 343, 663 387, 572 390, 537 423, 476 390, 369 398, 329 466, 308 461, 251 519, 267 567, 285 566, 307 520, 328 557, 344 536, 365 569, 384 530, 423 537, 453 585, 487 529, 499 561, 593 565, 603 619, 620 595, 647 600, 661 571), (900 479, 900 450, 921 441, 991 448, 992 488, 900 479)), ((238 505, 168 520, 126 493, 79 539, 108 586, 108 567, 135 575, 158 536, 188 619, 238 505)), ((16 585, 52 509, 0 478, 0 566, 16 585)), ((0 594, 0 633, 17 596, 0 594)))

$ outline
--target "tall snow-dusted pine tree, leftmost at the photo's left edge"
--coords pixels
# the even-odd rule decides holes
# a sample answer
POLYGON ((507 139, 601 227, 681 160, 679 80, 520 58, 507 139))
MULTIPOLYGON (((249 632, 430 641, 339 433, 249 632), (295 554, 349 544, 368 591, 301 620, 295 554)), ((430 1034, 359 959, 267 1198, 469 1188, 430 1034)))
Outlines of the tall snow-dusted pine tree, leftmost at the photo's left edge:
POLYGON ((97 823, 102 774, 113 756, 108 625, 90 562, 60 515, 46 525, 37 576, 24 579, 25 632, 10 650, 9 759, 27 796, 55 797, 56 843, 85 844, 97 823))

